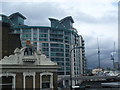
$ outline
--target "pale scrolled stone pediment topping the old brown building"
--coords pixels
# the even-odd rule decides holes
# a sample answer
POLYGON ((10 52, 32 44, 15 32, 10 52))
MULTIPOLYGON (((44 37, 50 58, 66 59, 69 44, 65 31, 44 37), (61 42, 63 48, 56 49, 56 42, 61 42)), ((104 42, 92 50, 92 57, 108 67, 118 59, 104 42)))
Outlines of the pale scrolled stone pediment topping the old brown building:
POLYGON ((33 50, 32 53, 25 53, 26 47, 24 48, 16 48, 14 51, 14 55, 5 56, 0 64, 18 64, 18 65, 57 65, 57 63, 51 61, 47 58, 41 51, 33 50))

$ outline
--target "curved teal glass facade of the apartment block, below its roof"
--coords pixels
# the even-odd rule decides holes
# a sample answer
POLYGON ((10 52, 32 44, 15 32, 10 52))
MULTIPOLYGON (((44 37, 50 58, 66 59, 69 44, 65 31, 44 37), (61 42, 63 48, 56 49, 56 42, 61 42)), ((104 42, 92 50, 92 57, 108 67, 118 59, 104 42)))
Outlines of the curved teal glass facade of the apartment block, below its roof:
MULTIPOLYGON (((39 50, 42 50, 47 57, 52 61, 57 62, 61 68, 58 70, 60 75, 70 74, 70 49, 75 45, 80 45, 76 39, 79 39, 77 33, 66 30, 52 28, 21 28, 22 46, 25 46, 26 40, 31 40, 31 43, 39 50), (77 37, 76 37, 77 36, 77 37), (72 41, 71 41, 71 37, 72 41), (76 44, 77 43, 77 44, 76 44)), ((80 51, 74 50, 75 73, 80 74, 80 51), (76 55, 77 58, 76 58, 76 55), (79 72, 78 72, 79 71, 79 72)))

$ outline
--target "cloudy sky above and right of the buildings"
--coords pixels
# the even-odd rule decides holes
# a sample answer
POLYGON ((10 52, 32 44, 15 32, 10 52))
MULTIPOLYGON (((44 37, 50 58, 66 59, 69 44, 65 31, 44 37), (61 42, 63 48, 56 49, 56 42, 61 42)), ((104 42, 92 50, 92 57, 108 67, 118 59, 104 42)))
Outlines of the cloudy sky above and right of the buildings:
MULTIPOLYGON (((85 40, 88 68, 98 67, 97 40, 101 67, 112 67, 114 42, 118 49, 118 0, 4 0, 0 6, 1 14, 20 12, 31 26, 50 26, 48 18, 72 16, 74 28, 85 40)), ((117 53, 114 56, 117 61, 117 53)))

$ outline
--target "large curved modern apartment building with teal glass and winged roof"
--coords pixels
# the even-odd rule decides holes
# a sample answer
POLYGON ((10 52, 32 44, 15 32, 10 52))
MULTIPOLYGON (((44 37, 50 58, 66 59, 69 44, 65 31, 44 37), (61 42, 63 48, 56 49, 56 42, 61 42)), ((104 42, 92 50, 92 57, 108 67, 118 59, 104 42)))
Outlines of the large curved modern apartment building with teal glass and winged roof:
POLYGON ((74 49, 70 55, 70 50, 74 47, 84 46, 82 36, 78 35, 73 27, 74 20, 71 16, 61 20, 49 18, 51 26, 48 27, 25 25, 26 17, 19 12, 8 17, 12 22, 13 33, 20 34, 22 46, 25 47, 26 40, 30 40, 37 50, 41 50, 61 66, 58 70, 59 75, 70 75, 70 60, 73 75, 85 73, 85 48, 74 49))

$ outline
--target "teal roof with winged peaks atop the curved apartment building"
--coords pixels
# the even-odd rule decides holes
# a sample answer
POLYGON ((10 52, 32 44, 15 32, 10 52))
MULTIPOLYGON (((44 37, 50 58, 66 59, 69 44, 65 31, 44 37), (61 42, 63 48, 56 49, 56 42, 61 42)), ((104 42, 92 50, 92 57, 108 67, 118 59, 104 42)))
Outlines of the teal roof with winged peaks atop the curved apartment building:
POLYGON ((71 16, 67 16, 61 20, 58 19, 54 19, 54 18, 49 18, 49 20, 51 21, 51 26, 28 26, 20 23, 16 23, 19 22, 18 19, 16 19, 14 21, 15 18, 17 17, 21 17, 23 20, 26 19, 26 17, 24 17, 21 13, 16 12, 11 14, 10 16, 6 16, 6 15, 0 15, 2 16, 2 21, 3 22, 7 22, 10 23, 10 25, 12 26, 13 29, 19 29, 19 28, 52 28, 52 29, 58 29, 58 30, 66 30, 66 31, 72 31, 72 32, 76 32, 77 30, 74 29, 74 27, 72 26, 72 24, 74 23, 74 20, 71 16), (12 19, 14 18, 14 19, 12 19), (20 25, 19 25, 20 24, 20 25))

